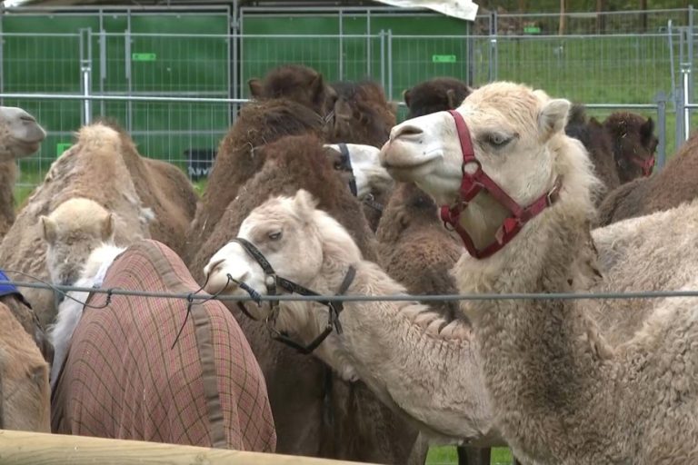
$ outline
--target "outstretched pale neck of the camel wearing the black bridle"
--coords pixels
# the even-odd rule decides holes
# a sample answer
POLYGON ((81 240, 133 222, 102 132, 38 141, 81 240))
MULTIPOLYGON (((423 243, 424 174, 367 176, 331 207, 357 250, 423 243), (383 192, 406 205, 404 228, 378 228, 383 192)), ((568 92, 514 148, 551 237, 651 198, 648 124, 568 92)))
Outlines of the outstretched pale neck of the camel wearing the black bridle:
MULTIPOLYGON (((406 293, 374 263, 358 262, 354 267, 356 276, 347 294, 406 293)), ((335 274, 337 278, 327 282, 334 290, 342 276, 335 274)), ((471 331, 460 322, 446 325, 428 310, 415 302, 344 303, 344 331, 334 335, 329 361, 348 361, 386 405, 438 440, 491 441, 493 422, 471 331)))

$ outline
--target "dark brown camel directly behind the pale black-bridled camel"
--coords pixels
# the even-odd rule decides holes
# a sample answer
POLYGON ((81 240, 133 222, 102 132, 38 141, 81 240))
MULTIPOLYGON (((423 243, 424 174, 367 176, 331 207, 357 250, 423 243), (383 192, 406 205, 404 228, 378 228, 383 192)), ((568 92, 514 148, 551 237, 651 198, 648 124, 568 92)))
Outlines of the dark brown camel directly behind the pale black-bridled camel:
MULTIPOLYGON (((364 256, 375 259, 373 234, 361 204, 334 171, 317 135, 285 137, 264 145, 256 155, 264 166, 238 189, 238 195, 189 263, 199 282, 204 282, 204 265, 235 237, 240 223, 254 207, 271 195, 292 195, 301 188, 317 196, 320 207, 349 230, 364 256)), ((384 407, 363 383, 341 381, 314 357, 269 341, 263 323, 251 321, 242 313, 235 316, 267 381, 277 452, 407 463, 417 431, 384 407)))

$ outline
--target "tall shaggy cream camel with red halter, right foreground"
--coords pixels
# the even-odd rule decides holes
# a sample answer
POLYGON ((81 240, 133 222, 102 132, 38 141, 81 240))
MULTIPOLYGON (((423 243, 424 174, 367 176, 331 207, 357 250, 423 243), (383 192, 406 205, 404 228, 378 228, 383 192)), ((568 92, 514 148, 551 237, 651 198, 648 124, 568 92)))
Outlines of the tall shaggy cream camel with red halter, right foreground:
MULTIPOLYGON (((454 269, 461 292, 594 289, 598 271, 588 223, 598 180, 581 143, 563 134, 569 107, 542 91, 494 83, 454 114, 394 128, 381 153, 384 165, 445 205, 445 220, 473 255, 464 254, 454 269), (488 186, 487 193, 478 193, 475 180, 488 186), (520 205, 532 208, 515 213, 520 205)), ((686 213, 696 210, 693 203, 645 222, 619 223, 616 233, 623 230, 625 243, 618 250, 627 261, 606 243, 599 248, 602 269, 630 263, 632 270, 615 277, 624 272, 626 282, 630 273, 642 279, 642 269, 648 281, 674 279, 680 285, 669 289, 694 289, 694 263, 671 260, 683 254, 695 261, 698 222, 686 213), (659 222, 671 238, 656 239, 659 222), (647 223, 654 234, 633 235, 633 226, 647 223), (647 272, 647 263, 656 270, 647 272)), ((698 459, 698 357, 688 349, 698 338, 692 303, 654 301, 638 331, 615 344, 595 321, 600 305, 602 314, 618 307, 554 299, 462 302, 474 322, 484 384, 504 439, 517 457, 543 464, 698 459)))

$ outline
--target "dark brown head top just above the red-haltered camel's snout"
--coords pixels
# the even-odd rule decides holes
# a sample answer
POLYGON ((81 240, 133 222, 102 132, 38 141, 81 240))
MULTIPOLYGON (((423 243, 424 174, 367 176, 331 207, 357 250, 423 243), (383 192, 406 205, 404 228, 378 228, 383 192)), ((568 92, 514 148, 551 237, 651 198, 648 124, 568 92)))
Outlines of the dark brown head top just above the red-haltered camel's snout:
POLYGON ((470 93, 468 84, 452 77, 435 77, 424 81, 403 93, 404 103, 410 109, 407 118, 453 110, 470 93))

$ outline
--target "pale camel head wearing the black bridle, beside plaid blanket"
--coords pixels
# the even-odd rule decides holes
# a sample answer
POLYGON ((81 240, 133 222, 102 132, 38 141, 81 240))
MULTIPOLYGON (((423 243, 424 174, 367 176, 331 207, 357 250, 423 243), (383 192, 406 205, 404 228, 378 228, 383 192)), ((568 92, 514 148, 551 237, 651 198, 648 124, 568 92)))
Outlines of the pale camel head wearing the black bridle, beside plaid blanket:
MULTIPOLYGON (((361 252, 344 227, 331 216, 316 209, 310 193, 298 191, 294 197, 276 197, 255 208, 240 225, 237 237, 250 242, 264 255, 277 276, 320 294, 337 292, 344 280, 347 263, 361 260, 361 252)), ((262 266, 239 242, 228 242, 204 267, 209 293, 248 295, 238 284, 244 282, 254 291, 268 294, 262 266)), ((277 288, 277 292, 285 292, 277 288)), ((234 302, 224 302, 231 309, 234 302)), ((272 312, 268 302, 248 302, 247 312, 264 320, 272 312)), ((308 343, 324 331, 327 308, 306 302, 283 302, 275 328, 308 343)), ((340 372, 346 367, 333 356, 334 335, 314 352, 340 372)))

